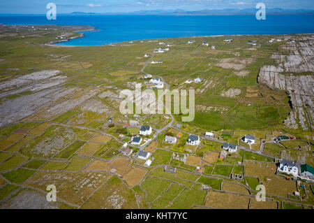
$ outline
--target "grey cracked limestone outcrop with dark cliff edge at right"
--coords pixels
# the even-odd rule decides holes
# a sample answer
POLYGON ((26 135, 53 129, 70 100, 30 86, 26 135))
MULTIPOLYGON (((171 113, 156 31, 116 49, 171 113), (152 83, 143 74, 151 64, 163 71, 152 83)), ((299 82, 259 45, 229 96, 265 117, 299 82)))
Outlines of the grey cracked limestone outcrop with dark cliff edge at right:
POLYGON ((303 36, 281 46, 272 58, 278 66, 266 65, 260 69, 258 82, 271 89, 284 90, 290 95, 292 111, 285 127, 312 131, 314 100, 314 36, 303 36))

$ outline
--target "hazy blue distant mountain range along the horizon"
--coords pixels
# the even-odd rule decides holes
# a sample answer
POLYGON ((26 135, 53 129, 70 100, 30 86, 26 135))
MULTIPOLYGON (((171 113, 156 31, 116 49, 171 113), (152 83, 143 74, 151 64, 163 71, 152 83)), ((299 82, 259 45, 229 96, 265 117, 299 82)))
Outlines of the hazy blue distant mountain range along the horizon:
MULTIPOLYGON (((83 13, 73 12, 66 15, 252 15, 257 12, 256 8, 225 8, 225 9, 206 9, 187 11, 182 9, 176 10, 140 10, 130 13, 83 13)), ((275 14, 313 14, 314 10, 310 9, 283 9, 283 8, 266 8, 266 13, 275 14)))

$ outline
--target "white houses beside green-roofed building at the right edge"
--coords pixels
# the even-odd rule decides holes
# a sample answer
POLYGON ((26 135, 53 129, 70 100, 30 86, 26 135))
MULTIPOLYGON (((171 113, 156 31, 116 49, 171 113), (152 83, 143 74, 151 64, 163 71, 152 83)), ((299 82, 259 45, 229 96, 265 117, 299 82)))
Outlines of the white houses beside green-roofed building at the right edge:
POLYGON ((314 181, 314 168, 308 164, 300 165, 298 161, 288 161, 281 159, 277 171, 299 177, 304 180, 314 181))

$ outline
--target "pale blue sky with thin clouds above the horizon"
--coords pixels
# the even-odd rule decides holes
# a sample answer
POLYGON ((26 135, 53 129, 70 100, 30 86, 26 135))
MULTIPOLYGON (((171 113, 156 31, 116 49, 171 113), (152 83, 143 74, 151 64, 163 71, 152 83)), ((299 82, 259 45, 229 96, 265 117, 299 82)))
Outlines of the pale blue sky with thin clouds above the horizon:
POLYGON ((267 8, 314 9, 313 0, 1 0, 0 13, 45 14, 46 5, 50 2, 56 3, 58 13, 255 8, 258 2, 265 3, 267 8))

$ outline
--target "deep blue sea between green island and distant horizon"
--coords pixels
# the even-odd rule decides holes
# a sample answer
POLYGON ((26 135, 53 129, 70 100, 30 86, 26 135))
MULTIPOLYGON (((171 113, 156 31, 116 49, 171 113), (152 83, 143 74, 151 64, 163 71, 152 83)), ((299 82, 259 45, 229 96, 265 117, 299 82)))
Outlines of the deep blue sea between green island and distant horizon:
POLYGON ((98 31, 85 31, 77 38, 58 45, 105 45, 151 38, 214 36, 238 34, 314 33, 314 15, 0 15, 1 24, 90 25, 98 31))

